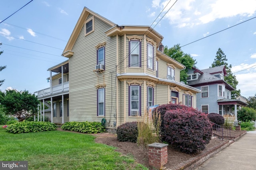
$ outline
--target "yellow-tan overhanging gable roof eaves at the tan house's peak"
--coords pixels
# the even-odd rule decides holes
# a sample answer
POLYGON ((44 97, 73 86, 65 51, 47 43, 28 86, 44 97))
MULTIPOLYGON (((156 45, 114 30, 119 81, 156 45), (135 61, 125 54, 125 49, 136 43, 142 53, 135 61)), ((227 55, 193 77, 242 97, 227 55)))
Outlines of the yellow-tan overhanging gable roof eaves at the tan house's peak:
POLYGON ((113 27, 114 25, 116 25, 114 22, 104 18, 103 16, 97 14, 96 12, 93 12, 92 10, 89 10, 88 8, 84 7, 84 10, 82 11, 77 23, 76 23, 76 26, 68 40, 68 43, 62 53, 62 55, 64 53, 67 53, 68 51, 71 51, 73 46, 74 46, 74 43, 84 25, 84 22, 86 21, 87 17, 89 16, 89 14, 93 15, 94 17, 104 21, 105 23, 107 23, 108 25, 110 25, 111 27, 113 27))

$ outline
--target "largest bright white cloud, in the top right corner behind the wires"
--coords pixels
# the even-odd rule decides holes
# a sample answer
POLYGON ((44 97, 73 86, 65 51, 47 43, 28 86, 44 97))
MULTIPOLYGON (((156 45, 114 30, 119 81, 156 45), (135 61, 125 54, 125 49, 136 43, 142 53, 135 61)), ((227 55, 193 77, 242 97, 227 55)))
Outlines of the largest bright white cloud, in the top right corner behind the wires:
MULTIPOLYGON (((153 0, 152 7, 164 9, 169 0, 153 0)), ((164 9, 162 16, 171 8, 175 1, 171 1, 164 9)), ((158 14, 159 12, 156 12, 158 14)), ((165 15, 170 24, 178 27, 192 27, 209 23, 220 18, 234 16, 249 17, 256 12, 256 0, 182 0, 177 1, 165 15)))

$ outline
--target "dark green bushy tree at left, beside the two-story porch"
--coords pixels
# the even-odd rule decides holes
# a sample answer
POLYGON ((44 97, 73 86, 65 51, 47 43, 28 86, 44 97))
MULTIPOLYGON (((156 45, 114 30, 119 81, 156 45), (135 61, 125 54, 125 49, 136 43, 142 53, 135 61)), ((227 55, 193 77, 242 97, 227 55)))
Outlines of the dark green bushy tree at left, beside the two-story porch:
POLYGON ((14 115, 19 121, 36 115, 39 103, 37 97, 28 93, 27 90, 20 92, 15 89, 0 91, 0 104, 4 106, 7 114, 14 115))

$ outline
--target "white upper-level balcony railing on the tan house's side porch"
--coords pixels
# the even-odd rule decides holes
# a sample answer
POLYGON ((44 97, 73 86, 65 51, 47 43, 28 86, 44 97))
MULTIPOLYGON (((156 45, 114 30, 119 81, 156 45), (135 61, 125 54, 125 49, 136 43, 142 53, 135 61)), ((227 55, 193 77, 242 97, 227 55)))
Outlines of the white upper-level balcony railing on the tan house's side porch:
POLYGON ((63 91, 68 91, 68 90, 69 90, 69 82, 64 82, 63 89, 62 89, 62 84, 58 84, 57 86, 53 86, 52 89, 46 88, 43 90, 39 90, 39 91, 35 92, 35 94, 38 96, 38 98, 42 98, 44 96, 49 96, 51 94, 56 94, 56 93, 60 93, 63 91))

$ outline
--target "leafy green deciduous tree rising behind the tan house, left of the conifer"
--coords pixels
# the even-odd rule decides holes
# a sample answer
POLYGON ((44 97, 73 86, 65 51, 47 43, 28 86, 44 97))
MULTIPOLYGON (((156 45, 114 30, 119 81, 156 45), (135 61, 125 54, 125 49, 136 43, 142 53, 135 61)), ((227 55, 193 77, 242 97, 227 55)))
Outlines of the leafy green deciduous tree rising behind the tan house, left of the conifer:
MULTIPOLYGON (((168 55, 169 57, 171 57, 172 59, 180 62, 181 64, 183 64, 184 66, 186 66, 186 68, 192 68, 195 67, 196 65, 196 60, 193 59, 193 57, 190 56, 190 54, 184 53, 181 50, 180 44, 174 45, 173 47, 168 49, 168 46, 164 47, 164 54, 168 55)), ((188 70, 181 70, 180 71, 180 81, 183 81, 185 83, 187 83, 187 72, 188 70)))

